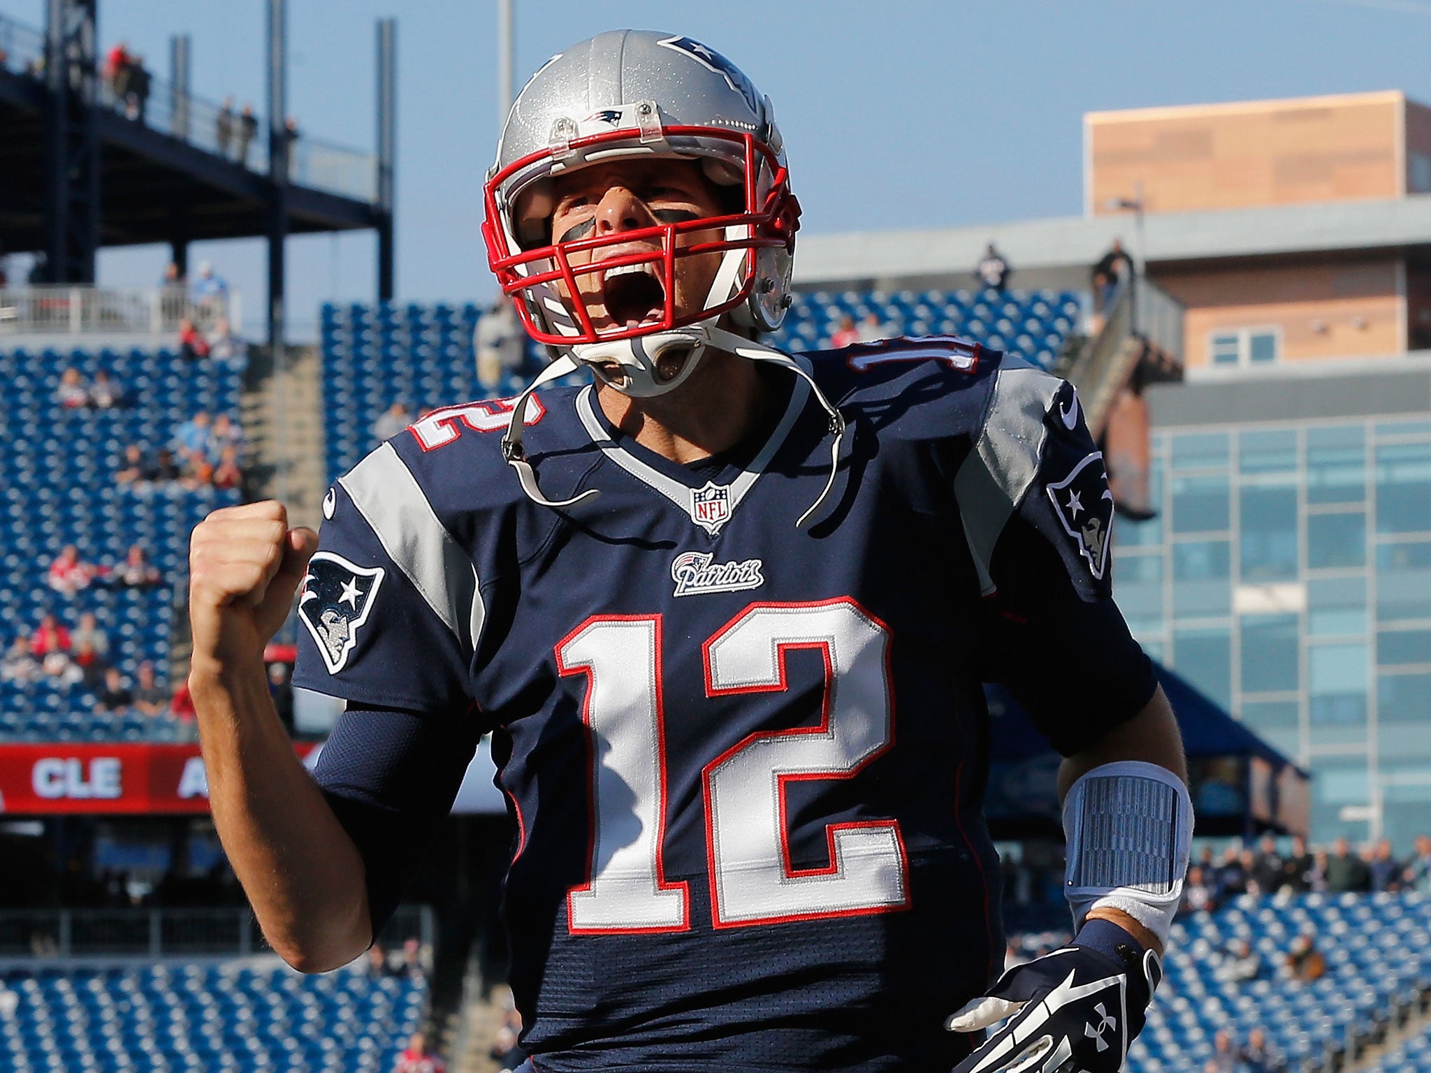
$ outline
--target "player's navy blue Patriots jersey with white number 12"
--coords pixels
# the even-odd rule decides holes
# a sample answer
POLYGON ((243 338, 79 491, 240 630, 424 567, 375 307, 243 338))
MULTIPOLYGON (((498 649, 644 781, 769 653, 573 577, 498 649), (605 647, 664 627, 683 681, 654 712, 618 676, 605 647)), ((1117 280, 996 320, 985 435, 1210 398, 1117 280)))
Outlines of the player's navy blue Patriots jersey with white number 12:
POLYGON ((542 491, 600 492, 567 511, 504 464, 502 402, 424 418, 325 501, 295 682, 352 728, 319 781, 358 798, 406 763, 382 807, 431 818, 494 733, 544 1070, 947 1070, 967 1043, 942 1021, 1003 956, 982 682, 1065 753, 1152 694, 1069 385, 952 339, 800 361, 851 428, 806 529, 830 435, 786 371, 757 441, 693 466, 592 388, 542 392, 542 491), (373 761, 375 718, 424 744, 373 761))

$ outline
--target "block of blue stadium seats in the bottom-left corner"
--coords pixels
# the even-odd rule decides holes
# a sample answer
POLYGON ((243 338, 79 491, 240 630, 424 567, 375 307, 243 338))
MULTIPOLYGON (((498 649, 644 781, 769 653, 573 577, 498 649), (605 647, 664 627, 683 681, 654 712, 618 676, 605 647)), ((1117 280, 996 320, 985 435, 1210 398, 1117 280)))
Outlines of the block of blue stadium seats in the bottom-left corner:
POLYGON ((426 984, 348 970, 150 964, 10 971, 0 1017, 11 1073, 388 1073, 426 984))

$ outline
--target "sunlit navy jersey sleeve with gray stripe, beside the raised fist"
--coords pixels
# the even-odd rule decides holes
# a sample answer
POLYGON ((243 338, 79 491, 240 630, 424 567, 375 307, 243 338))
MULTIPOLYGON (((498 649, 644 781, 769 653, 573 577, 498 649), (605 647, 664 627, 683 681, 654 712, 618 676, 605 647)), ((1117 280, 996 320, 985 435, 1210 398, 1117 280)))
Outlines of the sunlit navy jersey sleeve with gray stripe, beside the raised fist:
POLYGON ((471 557, 388 444, 323 499, 298 598, 293 684, 418 712, 468 711, 484 618, 471 557))

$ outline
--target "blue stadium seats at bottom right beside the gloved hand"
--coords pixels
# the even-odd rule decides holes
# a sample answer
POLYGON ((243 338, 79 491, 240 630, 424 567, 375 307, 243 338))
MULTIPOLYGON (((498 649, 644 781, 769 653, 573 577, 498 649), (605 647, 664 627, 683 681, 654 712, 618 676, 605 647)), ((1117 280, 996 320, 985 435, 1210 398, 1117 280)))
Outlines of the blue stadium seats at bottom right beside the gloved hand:
MULTIPOLYGON (((1128 1069, 1201 1070, 1219 1030, 1245 1043, 1256 1027, 1291 1060, 1291 1069, 1319 1069, 1331 1053, 1355 1052, 1379 1033, 1398 1006, 1420 1001, 1428 990, 1431 897, 1244 896, 1218 913, 1179 917, 1166 977, 1148 1026, 1129 1052, 1128 1069), (1284 961, 1292 940, 1308 933, 1327 959, 1327 974, 1298 983, 1284 961), (1218 956, 1239 939, 1249 940, 1262 956, 1262 977, 1246 983, 1218 980, 1218 956)), ((1431 1043, 1420 1047, 1431 1069, 1431 1043)), ((1411 1066, 1384 1069, 1390 1073, 1411 1066)))

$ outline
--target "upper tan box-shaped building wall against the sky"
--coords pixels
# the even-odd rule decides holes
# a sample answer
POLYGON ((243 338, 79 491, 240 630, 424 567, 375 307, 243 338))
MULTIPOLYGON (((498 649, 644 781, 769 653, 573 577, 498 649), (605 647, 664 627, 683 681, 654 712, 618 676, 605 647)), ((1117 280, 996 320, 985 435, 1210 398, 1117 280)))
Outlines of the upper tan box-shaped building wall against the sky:
POLYGON ((1387 92, 1089 113, 1085 209, 1108 213, 1139 182, 1148 212, 1397 197, 1404 103, 1387 92))

